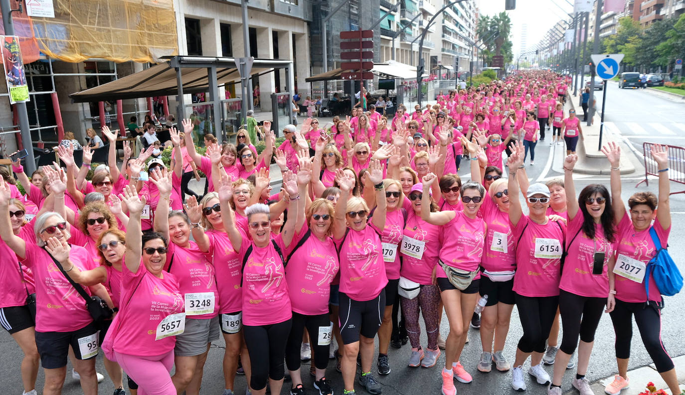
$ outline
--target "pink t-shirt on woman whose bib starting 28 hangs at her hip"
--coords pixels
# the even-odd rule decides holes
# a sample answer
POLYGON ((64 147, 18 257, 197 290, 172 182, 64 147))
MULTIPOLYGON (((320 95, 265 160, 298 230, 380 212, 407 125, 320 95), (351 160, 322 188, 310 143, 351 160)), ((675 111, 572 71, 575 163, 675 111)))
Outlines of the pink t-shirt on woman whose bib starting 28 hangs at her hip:
POLYGON ((295 252, 292 249, 309 231, 303 225, 292 236, 286 266, 286 281, 292 311, 305 316, 318 316, 328 313, 331 282, 340 270, 338 252, 332 238, 321 241, 310 233, 307 240, 295 252))

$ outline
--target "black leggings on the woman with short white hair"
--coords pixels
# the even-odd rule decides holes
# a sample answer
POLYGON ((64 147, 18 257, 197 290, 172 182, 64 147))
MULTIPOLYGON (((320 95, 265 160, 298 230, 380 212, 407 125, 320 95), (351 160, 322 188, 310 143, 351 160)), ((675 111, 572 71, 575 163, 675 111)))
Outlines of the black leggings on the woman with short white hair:
MULTIPOLYGON (((259 327, 242 326, 252 366, 250 387, 253 390, 262 390, 266 387, 267 379, 280 380, 285 376, 283 359, 286 355, 290 325, 292 320, 259 327)), ((301 339, 301 331, 299 336, 301 339)))

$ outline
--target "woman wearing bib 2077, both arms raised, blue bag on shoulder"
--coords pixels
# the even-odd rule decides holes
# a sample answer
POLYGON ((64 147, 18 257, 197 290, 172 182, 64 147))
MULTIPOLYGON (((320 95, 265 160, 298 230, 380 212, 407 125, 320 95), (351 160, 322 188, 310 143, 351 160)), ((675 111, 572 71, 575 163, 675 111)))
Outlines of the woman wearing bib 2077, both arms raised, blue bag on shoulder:
MULTIPOLYGON (((621 170, 619 159, 621 151, 614 143, 604 146, 602 152, 611 164, 611 194, 621 196, 621 170)), ((656 249, 649 234, 651 221, 656 218, 653 229, 658 235, 659 242, 666 246, 671 231, 671 209, 669 207, 669 157, 662 146, 651 146, 651 157, 659 166, 659 199, 651 192, 638 192, 628 199, 630 211, 626 212, 621 199, 614 199, 614 224, 618 229, 619 246, 617 266, 621 270, 623 262, 632 262, 632 266, 647 264, 656 249), (657 210, 657 204, 659 209, 657 210), (630 215, 629 215, 630 214, 630 215), (645 248, 645 246, 647 246, 645 248)), ((642 270, 644 272, 644 270, 642 270)), ((671 393, 679 394, 677 375, 673 367, 673 360, 669 357, 664 344, 661 342, 661 295, 653 277, 649 279, 649 298, 645 291, 645 281, 642 277, 635 277, 630 272, 609 274, 610 294, 614 298, 616 307, 611 312, 611 320, 616 331, 616 363, 619 374, 614 381, 606 386, 608 394, 617 395, 628 386, 628 359, 630 358, 630 340, 632 339, 632 316, 638 324, 643 344, 647 353, 654 361, 656 370, 669 385, 671 393)))

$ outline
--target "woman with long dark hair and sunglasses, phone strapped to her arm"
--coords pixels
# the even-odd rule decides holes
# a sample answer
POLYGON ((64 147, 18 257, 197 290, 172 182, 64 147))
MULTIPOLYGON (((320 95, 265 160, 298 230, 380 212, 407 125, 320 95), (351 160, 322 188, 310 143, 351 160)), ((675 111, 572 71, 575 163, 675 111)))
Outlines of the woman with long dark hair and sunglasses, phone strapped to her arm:
POLYGON ((573 166, 578 157, 571 154, 564 160, 564 189, 566 190, 565 251, 569 259, 564 262, 559 283, 559 311, 564 335, 554 360, 554 377, 548 395, 561 395, 561 382, 571 355, 578 346, 578 365, 571 381, 580 395, 592 395, 585 378, 593 351, 595 331, 604 305, 606 312, 614 308, 609 296, 608 273, 614 268, 616 229, 614 210, 609 204, 609 191, 600 184, 590 184, 580 191, 575 200, 573 166))

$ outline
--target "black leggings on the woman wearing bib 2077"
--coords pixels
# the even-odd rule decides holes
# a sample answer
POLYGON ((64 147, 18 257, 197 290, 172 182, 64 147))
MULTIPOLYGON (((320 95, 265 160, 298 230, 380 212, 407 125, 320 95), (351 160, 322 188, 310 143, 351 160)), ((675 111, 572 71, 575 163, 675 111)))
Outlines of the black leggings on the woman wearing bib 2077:
POLYGON ((610 312, 616 331, 616 358, 630 358, 630 340, 633 337, 632 315, 640 330, 640 337, 647 348, 647 353, 654 361, 656 371, 668 372, 673 369, 673 360, 661 342, 661 311, 656 303, 628 303, 616 299, 616 307, 610 312))

